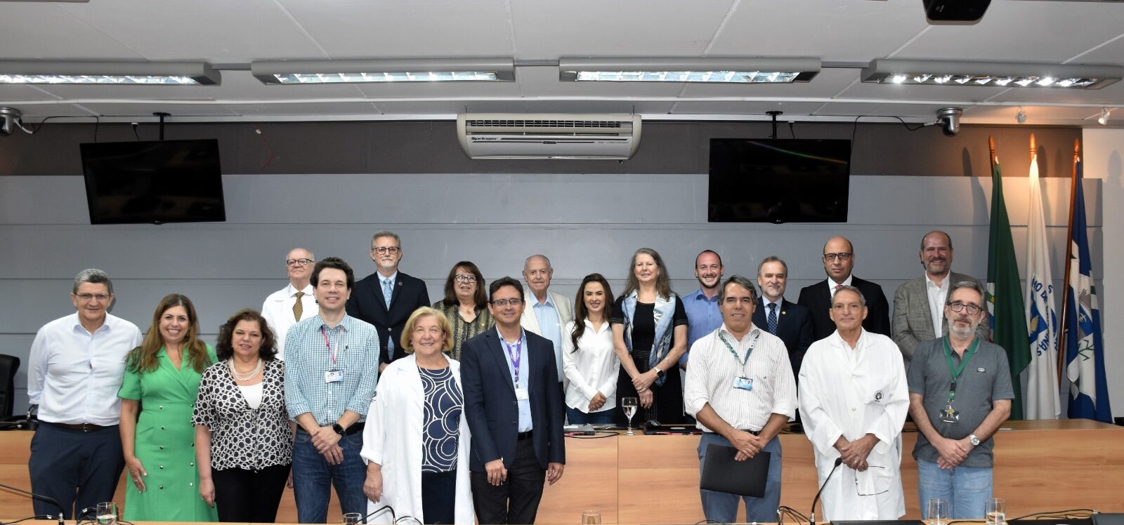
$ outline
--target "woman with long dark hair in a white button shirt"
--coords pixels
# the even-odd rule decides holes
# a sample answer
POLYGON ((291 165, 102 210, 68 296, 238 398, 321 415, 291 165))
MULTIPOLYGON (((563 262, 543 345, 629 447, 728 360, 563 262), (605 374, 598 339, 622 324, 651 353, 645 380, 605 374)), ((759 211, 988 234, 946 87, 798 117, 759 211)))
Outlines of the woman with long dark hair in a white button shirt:
POLYGON ((573 300, 573 321, 562 331, 565 414, 571 425, 613 423, 620 360, 613 350, 609 301, 613 291, 601 274, 581 279, 573 300))

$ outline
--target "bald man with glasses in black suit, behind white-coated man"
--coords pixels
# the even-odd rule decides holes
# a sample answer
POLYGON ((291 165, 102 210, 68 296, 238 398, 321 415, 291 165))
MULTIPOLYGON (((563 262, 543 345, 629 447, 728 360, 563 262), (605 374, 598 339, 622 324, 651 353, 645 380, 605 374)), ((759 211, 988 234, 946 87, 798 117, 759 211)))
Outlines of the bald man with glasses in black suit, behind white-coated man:
POLYGON ((877 283, 860 279, 851 274, 854 269, 854 245, 845 237, 833 237, 824 245, 824 273, 827 278, 819 283, 800 288, 797 304, 812 312, 812 331, 818 341, 835 332, 828 312, 832 308, 832 295, 844 286, 854 286, 867 298, 867 320, 862 328, 868 332, 890 337, 890 304, 886 301, 882 287, 877 283))

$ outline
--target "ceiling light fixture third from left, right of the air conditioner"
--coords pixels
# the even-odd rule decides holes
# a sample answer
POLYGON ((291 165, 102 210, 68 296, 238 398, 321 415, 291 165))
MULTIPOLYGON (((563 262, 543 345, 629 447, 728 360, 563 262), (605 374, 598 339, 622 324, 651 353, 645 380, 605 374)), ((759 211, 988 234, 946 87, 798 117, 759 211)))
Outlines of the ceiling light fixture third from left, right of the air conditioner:
POLYGON ((819 73, 819 58, 562 58, 566 82, 791 84, 819 73))

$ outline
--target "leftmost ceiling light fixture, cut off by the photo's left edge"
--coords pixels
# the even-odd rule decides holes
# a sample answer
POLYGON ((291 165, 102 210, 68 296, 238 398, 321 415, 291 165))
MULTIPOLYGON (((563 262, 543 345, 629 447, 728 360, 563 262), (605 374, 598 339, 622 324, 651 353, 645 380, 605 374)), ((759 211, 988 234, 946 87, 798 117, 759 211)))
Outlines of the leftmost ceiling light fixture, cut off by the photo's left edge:
POLYGON ((0 61, 0 84, 218 85, 206 62, 0 61))

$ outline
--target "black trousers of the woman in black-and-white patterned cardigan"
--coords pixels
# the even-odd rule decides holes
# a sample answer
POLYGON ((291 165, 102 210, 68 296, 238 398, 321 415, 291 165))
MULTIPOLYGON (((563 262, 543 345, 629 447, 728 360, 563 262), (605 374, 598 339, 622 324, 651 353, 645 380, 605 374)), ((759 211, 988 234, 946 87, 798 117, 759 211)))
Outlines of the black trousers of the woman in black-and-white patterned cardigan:
POLYGON ((219 522, 274 523, 289 479, 289 466, 212 470, 211 479, 219 522))

